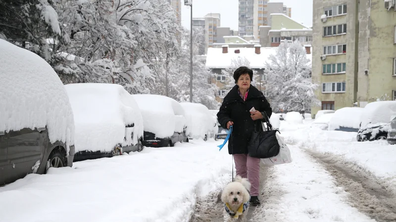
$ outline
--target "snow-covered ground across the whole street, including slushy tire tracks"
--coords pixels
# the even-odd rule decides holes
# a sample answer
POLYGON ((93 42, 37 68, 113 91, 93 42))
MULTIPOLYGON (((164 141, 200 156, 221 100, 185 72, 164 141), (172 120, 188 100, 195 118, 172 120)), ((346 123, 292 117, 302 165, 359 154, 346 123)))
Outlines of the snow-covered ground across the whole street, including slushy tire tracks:
MULTIPOLYGON (((262 205, 248 221, 396 221, 396 146, 306 125, 281 132, 294 162, 261 166, 262 205)), ((28 175, 0 187, 0 222, 222 222, 231 156, 219 144, 146 148, 28 175)))

